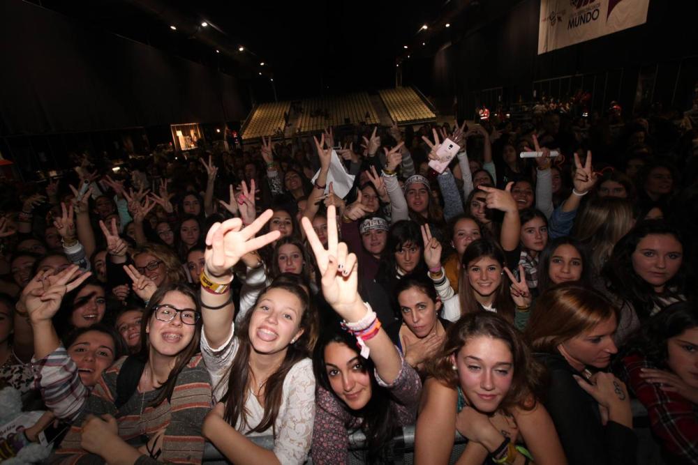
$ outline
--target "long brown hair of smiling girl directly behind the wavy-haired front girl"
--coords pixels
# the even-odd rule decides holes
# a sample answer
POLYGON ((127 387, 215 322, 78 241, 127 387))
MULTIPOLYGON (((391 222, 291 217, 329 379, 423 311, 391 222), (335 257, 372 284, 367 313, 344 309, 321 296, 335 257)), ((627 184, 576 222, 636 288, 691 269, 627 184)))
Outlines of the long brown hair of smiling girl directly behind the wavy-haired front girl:
POLYGON ((502 315, 505 319, 514 322, 514 301, 510 295, 510 280, 509 275, 504 273, 504 267, 506 265, 506 259, 504 255, 504 250, 496 242, 488 239, 477 239, 468 245, 466 251, 463 252, 463 259, 461 260, 461 278, 458 283, 458 295, 461 303, 461 315, 468 314, 472 312, 484 311, 480 302, 475 298, 475 291, 473 287, 470 286, 470 280, 468 280, 468 266, 473 262, 482 259, 483 257, 489 257, 496 261, 502 267, 502 281, 497 287, 494 295, 494 300, 492 301, 492 307, 497 311, 498 314, 502 315))

